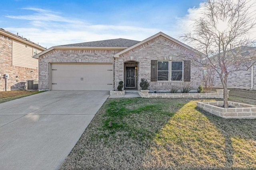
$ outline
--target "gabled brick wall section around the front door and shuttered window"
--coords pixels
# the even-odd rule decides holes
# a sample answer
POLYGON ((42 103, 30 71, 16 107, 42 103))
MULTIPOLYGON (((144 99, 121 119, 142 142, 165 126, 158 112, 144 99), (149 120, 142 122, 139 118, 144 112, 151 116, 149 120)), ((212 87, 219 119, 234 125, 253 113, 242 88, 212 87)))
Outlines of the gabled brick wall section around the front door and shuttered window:
MULTIPOLYGON (((115 84, 118 84, 119 81, 124 81, 124 62, 136 61, 139 63, 137 70, 138 86, 141 78, 145 78, 150 82, 151 60, 184 60, 179 57, 179 54, 184 51, 184 48, 162 36, 158 36, 115 59, 115 84)), ((200 69, 191 65, 190 84, 194 88, 200 86, 200 74, 200 69)), ((183 86, 188 83, 189 82, 150 82, 150 89, 169 89, 171 86, 183 86)), ((117 87, 115 87, 115 89, 116 88, 117 87)), ((138 86, 138 89, 140 89, 140 86, 138 86)))

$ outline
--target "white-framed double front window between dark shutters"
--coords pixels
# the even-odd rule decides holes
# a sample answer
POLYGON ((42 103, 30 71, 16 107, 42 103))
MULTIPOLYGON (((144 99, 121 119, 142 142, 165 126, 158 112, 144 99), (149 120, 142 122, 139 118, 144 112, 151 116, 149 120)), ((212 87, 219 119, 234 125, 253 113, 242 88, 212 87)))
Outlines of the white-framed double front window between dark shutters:
POLYGON ((183 81, 183 61, 158 61, 157 80, 183 81))

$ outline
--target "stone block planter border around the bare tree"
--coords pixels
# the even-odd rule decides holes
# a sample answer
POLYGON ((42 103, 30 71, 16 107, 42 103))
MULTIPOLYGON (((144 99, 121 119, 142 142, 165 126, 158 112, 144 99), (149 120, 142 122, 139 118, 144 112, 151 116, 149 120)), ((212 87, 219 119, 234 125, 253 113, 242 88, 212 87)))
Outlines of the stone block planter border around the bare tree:
POLYGON ((222 108, 223 102, 197 102, 197 106, 209 113, 224 118, 256 119, 256 106, 237 102, 228 102, 234 108, 222 108))

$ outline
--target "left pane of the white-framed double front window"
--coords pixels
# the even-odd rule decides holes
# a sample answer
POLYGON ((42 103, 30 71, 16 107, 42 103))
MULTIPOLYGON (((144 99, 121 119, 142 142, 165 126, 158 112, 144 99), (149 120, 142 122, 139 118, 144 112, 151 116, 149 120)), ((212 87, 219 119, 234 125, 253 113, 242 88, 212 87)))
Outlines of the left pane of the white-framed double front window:
POLYGON ((158 61, 157 63, 157 80, 169 80, 169 61, 158 61))

